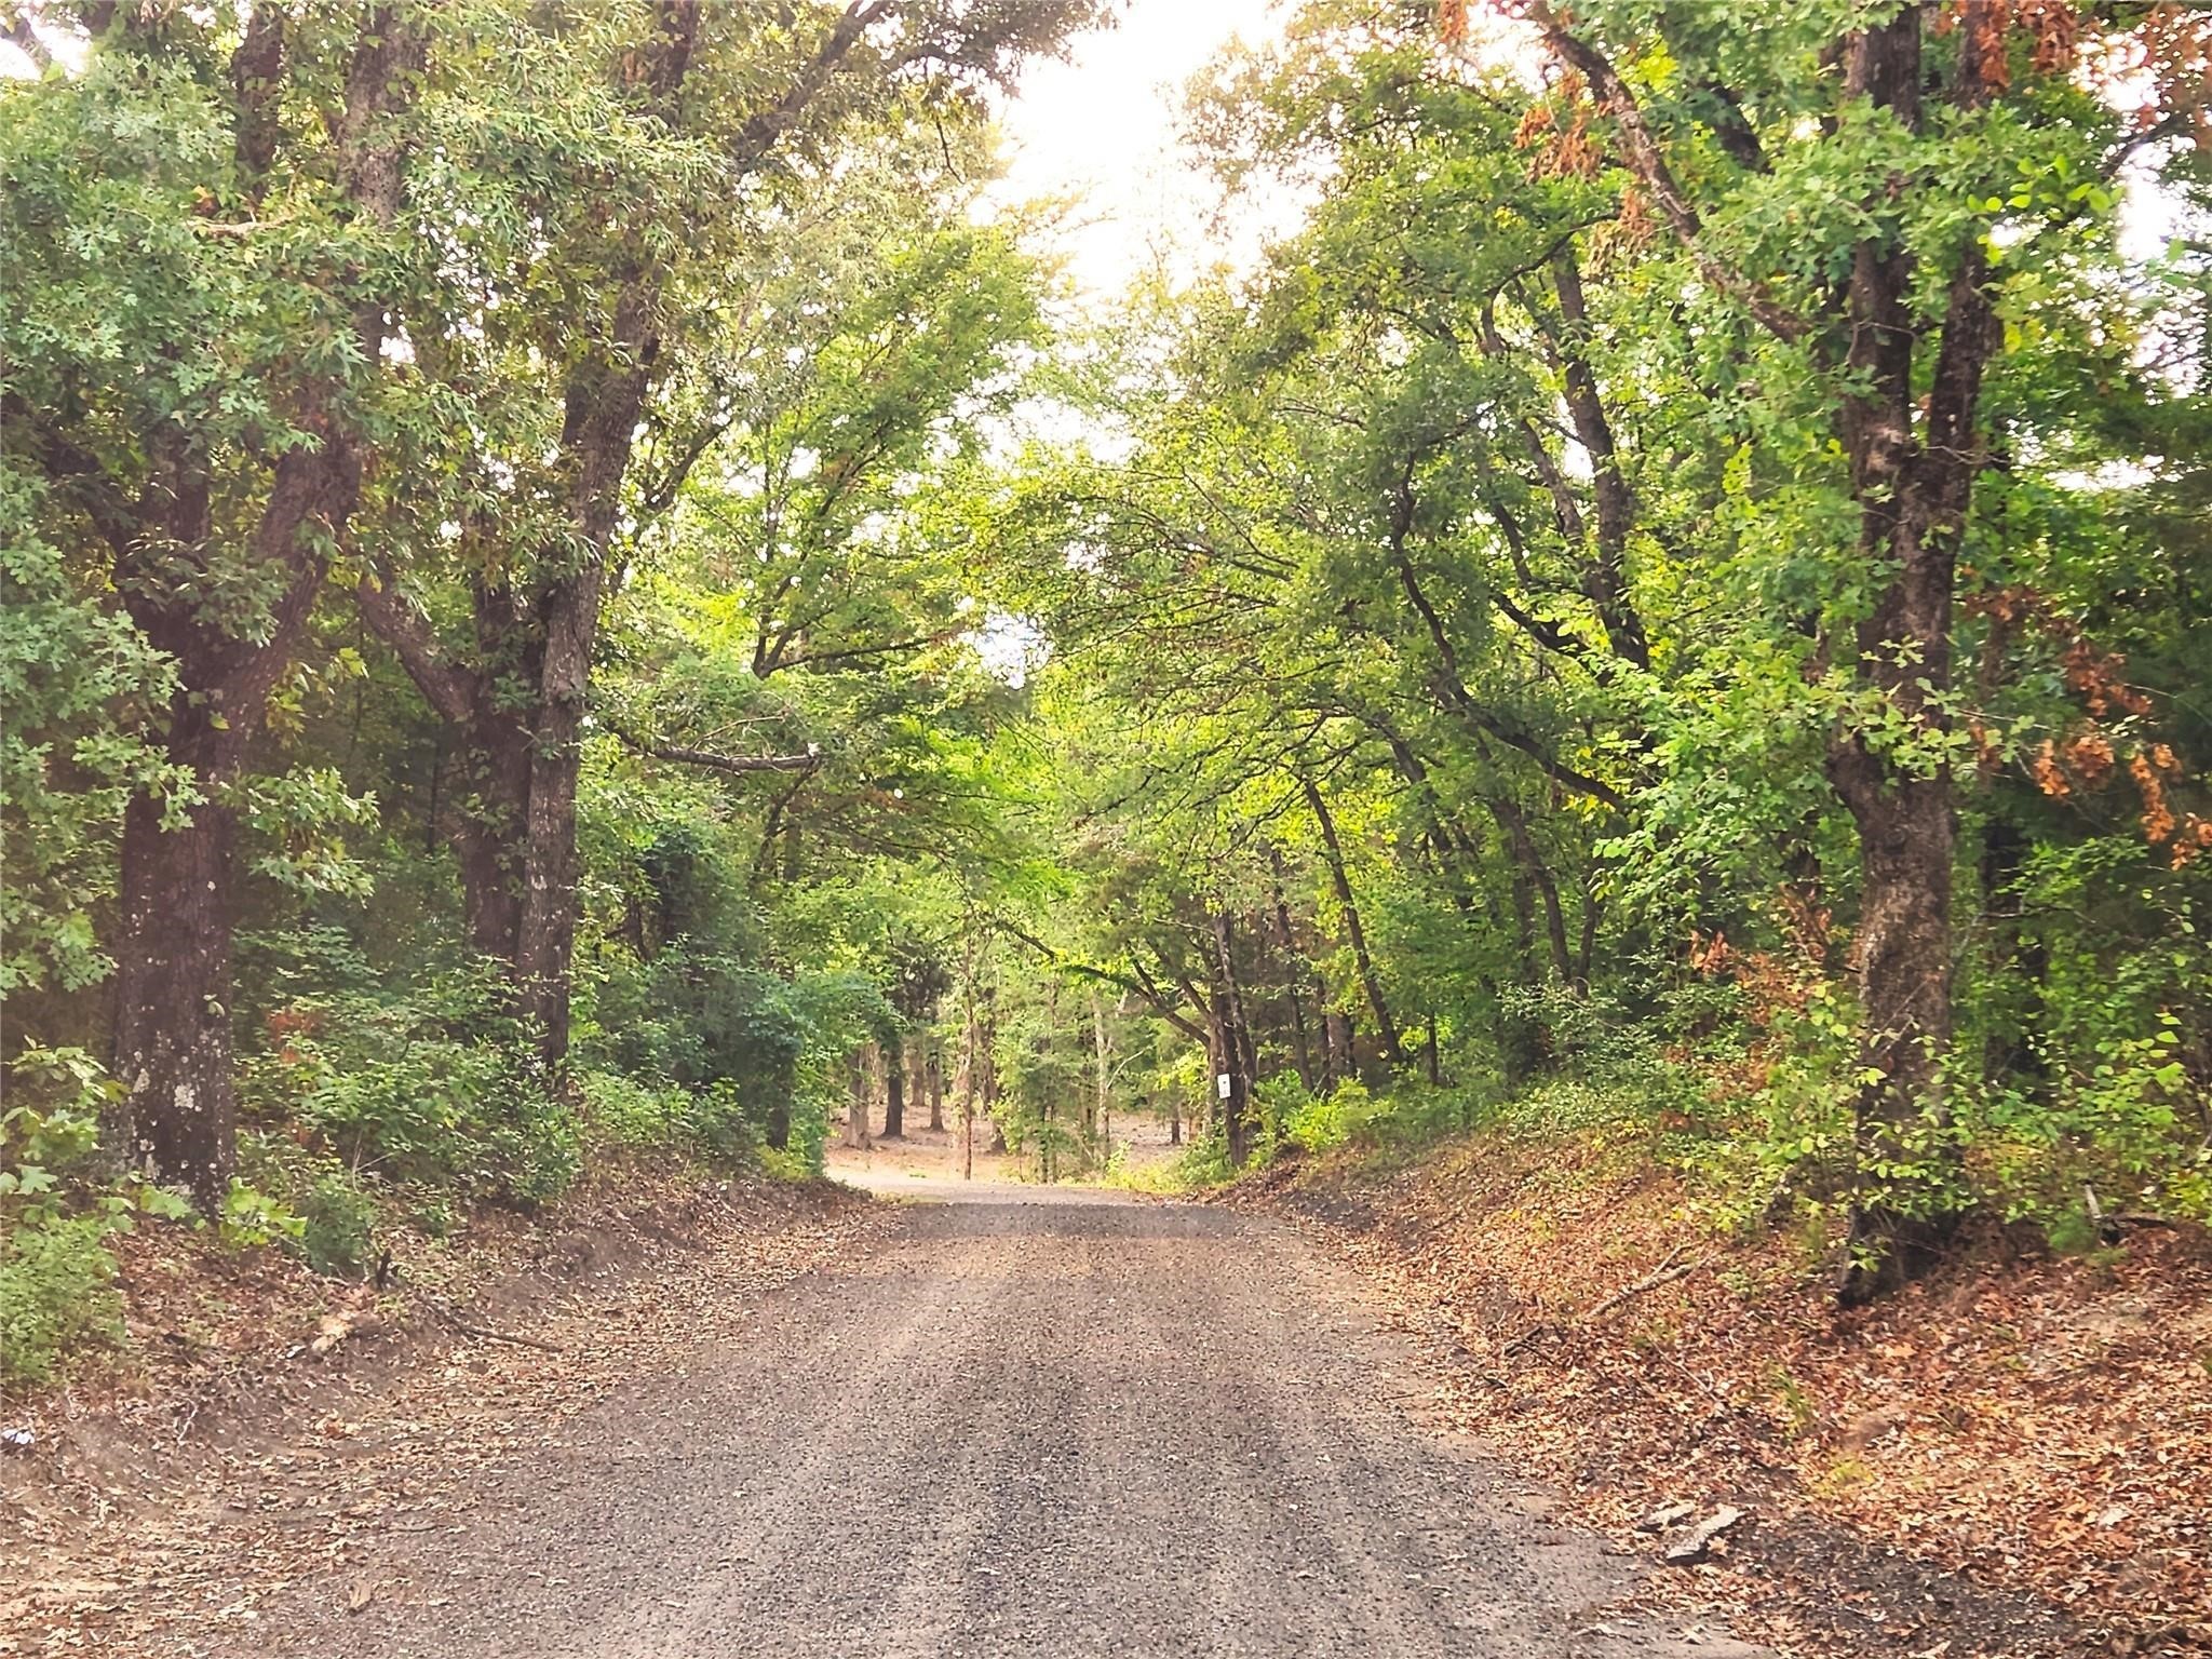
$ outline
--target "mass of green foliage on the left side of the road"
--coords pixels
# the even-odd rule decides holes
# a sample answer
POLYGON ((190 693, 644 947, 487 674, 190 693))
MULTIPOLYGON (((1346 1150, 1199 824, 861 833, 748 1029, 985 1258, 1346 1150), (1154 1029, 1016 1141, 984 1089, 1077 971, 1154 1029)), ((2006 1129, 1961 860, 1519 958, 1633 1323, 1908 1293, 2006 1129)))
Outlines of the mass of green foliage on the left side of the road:
POLYGON ((239 838, 190 918, 237 933, 223 1239, 352 1274, 387 1210, 540 1206, 595 1146, 821 1166, 852 1048, 936 1013, 956 872, 1018 856, 964 566, 1048 279, 971 208, 982 91, 1095 11, 894 9, 827 51, 834 4, 708 7, 648 95, 637 0, 303 13, 272 64, 243 13, 124 7, 0 80, 0 1223, 181 1206, 97 1155, 164 1099, 86 1060, 113 958, 168 947, 117 914, 126 812, 239 838), (633 369, 577 465, 577 398, 633 369), (418 637, 361 628, 365 580, 418 637), (557 626, 591 684, 555 697, 557 626), (553 701, 568 1068, 438 852, 504 836, 524 883, 471 743, 566 754, 526 730, 553 701))

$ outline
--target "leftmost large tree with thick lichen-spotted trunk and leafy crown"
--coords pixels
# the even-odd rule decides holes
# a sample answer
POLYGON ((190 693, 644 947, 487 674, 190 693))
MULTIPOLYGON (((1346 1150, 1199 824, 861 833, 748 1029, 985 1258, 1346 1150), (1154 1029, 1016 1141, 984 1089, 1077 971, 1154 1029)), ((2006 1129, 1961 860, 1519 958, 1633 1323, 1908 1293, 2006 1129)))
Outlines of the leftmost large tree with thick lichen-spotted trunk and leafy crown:
POLYGON ((128 1161, 212 1206, 237 1113, 234 790, 372 456, 418 418, 385 341, 434 281, 400 212, 442 60, 405 7, 82 22, 86 71, 4 100, 0 431, 66 513, 64 557, 173 666, 146 710, 166 765, 124 807, 113 1053, 128 1161))

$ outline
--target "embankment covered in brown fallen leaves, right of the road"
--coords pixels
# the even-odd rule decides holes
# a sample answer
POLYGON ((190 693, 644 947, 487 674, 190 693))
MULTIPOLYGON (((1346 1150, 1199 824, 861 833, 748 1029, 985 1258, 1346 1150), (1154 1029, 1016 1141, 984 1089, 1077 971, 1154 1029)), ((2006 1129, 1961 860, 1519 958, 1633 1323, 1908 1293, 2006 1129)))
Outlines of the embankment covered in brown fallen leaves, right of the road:
POLYGON ((1230 1201, 1349 1256, 1440 1363, 1438 1405, 1593 1520, 1743 1504, 1730 1559, 1697 1568, 1743 1635, 2212 1650, 2203 1237, 2090 1259, 1984 1237, 1838 1314, 1818 1237, 1714 1237, 1670 1177, 1590 1141, 1292 1164, 1230 1201))

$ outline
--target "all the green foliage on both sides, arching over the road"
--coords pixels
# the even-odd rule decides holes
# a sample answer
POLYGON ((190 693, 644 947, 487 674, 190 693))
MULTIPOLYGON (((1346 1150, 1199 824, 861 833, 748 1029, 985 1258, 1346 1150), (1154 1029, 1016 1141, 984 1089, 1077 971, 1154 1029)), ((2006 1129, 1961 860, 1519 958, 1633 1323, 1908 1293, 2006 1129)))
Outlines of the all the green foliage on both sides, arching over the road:
MULTIPOLYGON (((2024 38, 1960 95, 1931 11, 1907 117, 1823 66, 1849 7, 1577 4, 1686 239, 1613 95, 1453 55, 1436 7, 1318 0, 1190 108, 1194 159, 1303 221, 1075 332, 1022 215, 978 212, 980 88, 1093 11, 894 9, 816 84, 838 7, 708 7, 648 113, 637 0, 416 7, 389 228, 332 119, 367 13, 294 20, 265 175, 232 9, 126 7, 82 69, 0 82, 24 1352, 71 1338, 51 1287, 97 1281, 100 1225, 181 1219, 100 1155, 133 801, 241 836, 210 1002, 250 1183, 212 1223, 323 1272, 387 1212, 546 1203, 602 1150, 818 1170, 856 1055, 911 1040, 1044 1175, 1088 1170, 1102 1106, 1172 1097, 1164 1181, 1228 1177, 1232 1128, 1272 1157, 1489 1126, 1741 1221, 1980 1203, 2077 1241, 2084 1188, 2212 1217, 2212 312, 2192 239, 2126 250, 2115 184, 2128 153, 2194 215, 2201 159, 2128 150, 2024 38), (1944 639, 1885 635, 1869 252, 1902 272, 1905 482, 1973 482, 1922 535, 1944 639), (1933 442, 1960 294, 1989 354, 1933 442), (263 546, 334 434, 356 500, 263 546), (201 511, 148 533, 146 502, 201 511), (1851 989, 1885 818, 1840 794, 1854 754, 1891 803, 1940 783, 1960 834, 1955 1031, 1902 1102, 1851 989), (515 838, 571 757, 562 1066, 487 940, 542 898, 515 838)), ((2137 24, 2081 27, 2128 60, 2137 24)))

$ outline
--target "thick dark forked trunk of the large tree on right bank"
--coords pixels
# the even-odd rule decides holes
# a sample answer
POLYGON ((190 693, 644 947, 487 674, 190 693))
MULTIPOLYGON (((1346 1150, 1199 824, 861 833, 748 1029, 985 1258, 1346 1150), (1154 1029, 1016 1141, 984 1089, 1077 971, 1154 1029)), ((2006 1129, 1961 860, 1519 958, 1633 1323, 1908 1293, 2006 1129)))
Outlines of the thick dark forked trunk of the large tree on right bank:
MULTIPOLYGON (((1907 133, 1922 128, 1927 75, 1922 35, 1933 7, 1896 7, 1836 42, 1840 93, 1907 133)), ((1942 1243, 1947 1172, 1940 1091, 1951 1044, 1951 858, 1953 781, 1942 737, 1951 695, 1951 599, 1958 540, 1984 462, 1982 374, 2002 343, 1989 265, 1971 223, 1958 230, 1931 374, 1916 374, 1922 323, 1907 226, 1913 192, 1938 188, 1891 173, 1860 204, 1869 230, 1851 252, 1840 330, 1818 330, 1763 288, 1761 272, 1728 268, 1701 239, 1701 217, 1683 192, 1661 135, 1606 55, 1568 18, 1531 0, 1528 15, 1608 108, 1624 164, 1637 173, 1717 294, 1728 294, 1778 341, 1809 345, 1823 369, 1843 369, 1836 438, 1849 462, 1860 553, 1882 582, 1856 639, 1823 637, 1829 661, 1849 661, 1860 690, 1876 692, 1878 741, 1865 726, 1834 732, 1827 774, 1858 830, 1860 918, 1854 940, 1860 1044, 1851 1254, 1838 1287, 1863 1303, 1916 1272, 1942 1243), (1918 418, 1918 431, 1916 431, 1918 418), (1905 765, 1896 745, 1933 739, 1905 765), (1938 1130, 1924 1137, 1920 1130, 1938 1130), (1916 1168, 1918 1166, 1918 1168, 1916 1168), (1871 1172, 1880 1170, 1876 1177, 1871 1172), (1931 1179, 1933 1177, 1933 1179, 1931 1179)), ((2002 11, 1986 0, 1960 7, 1953 106, 1973 108, 2004 77, 2002 11)))

